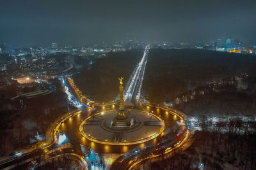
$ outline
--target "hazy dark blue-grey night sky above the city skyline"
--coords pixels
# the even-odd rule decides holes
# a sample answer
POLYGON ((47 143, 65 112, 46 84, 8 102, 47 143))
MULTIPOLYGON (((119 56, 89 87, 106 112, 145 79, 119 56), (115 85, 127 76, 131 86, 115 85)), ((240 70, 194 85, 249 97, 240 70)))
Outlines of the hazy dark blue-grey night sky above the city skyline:
POLYGON ((255 0, 1 0, 0 43, 256 39, 255 0))

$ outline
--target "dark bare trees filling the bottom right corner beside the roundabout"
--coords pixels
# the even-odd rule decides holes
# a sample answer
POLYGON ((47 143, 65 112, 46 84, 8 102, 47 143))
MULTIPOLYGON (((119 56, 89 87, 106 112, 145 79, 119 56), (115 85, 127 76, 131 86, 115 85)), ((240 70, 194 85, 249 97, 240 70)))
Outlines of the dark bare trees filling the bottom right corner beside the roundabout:
POLYGON ((151 169, 255 169, 256 123, 230 120, 193 136, 187 150, 176 150, 170 159, 148 164, 151 169))

